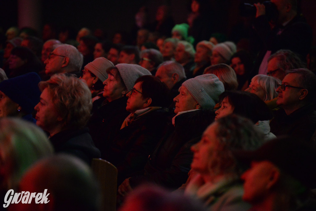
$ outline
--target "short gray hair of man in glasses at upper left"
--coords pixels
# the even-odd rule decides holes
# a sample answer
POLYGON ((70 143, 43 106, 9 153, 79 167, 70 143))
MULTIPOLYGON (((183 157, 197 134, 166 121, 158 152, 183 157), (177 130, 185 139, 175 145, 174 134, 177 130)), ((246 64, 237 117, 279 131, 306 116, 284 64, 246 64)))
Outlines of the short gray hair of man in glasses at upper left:
POLYGON ((54 45, 54 47, 56 47, 55 49, 58 49, 58 51, 62 51, 64 53, 63 56, 69 58, 67 72, 81 71, 83 56, 76 47, 68 44, 54 45))

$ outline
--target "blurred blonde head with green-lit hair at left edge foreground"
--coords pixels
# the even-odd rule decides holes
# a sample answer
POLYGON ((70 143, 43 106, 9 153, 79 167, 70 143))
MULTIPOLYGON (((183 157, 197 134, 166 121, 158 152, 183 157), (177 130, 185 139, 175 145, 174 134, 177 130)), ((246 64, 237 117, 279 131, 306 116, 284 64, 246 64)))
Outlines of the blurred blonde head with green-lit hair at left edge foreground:
POLYGON ((27 169, 53 154, 46 134, 36 125, 17 118, 0 119, 0 196, 17 190, 27 169))

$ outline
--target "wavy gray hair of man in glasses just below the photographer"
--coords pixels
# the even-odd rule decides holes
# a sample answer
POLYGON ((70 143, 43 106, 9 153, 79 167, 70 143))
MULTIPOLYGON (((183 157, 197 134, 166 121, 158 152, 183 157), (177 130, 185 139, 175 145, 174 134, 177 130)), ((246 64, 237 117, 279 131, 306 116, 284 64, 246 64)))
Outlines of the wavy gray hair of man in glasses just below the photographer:
POLYGON ((306 64, 302 62, 300 57, 290 50, 278 50, 276 53, 272 54, 269 57, 268 62, 274 58, 276 58, 279 61, 277 64, 278 68, 281 68, 283 70, 292 70, 306 67, 306 64))

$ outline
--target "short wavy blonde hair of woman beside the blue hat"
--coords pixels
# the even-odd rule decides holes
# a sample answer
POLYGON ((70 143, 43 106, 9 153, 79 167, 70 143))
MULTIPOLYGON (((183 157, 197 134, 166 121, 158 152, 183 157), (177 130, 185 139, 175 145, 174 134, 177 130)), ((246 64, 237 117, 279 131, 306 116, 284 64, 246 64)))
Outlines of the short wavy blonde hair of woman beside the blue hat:
POLYGON ((92 109, 91 92, 82 79, 64 74, 53 75, 39 83, 40 90, 48 89, 52 101, 67 129, 84 127, 92 109))

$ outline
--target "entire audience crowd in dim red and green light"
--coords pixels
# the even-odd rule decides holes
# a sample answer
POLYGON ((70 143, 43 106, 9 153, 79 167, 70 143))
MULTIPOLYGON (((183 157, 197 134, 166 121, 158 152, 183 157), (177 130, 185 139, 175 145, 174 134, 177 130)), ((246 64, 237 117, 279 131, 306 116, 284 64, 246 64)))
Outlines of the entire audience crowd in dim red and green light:
POLYGON ((296 0, 271 0, 236 39, 206 2, 179 24, 166 5, 150 24, 142 7, 134 34, 112 40, 7 30, 0 210, 101 210, 93 158, 117 168, 118 210, 316 210, 311 27, 296 0))

